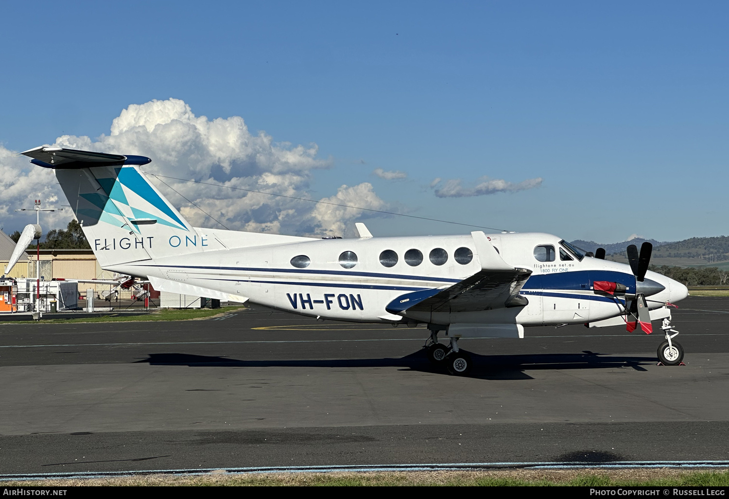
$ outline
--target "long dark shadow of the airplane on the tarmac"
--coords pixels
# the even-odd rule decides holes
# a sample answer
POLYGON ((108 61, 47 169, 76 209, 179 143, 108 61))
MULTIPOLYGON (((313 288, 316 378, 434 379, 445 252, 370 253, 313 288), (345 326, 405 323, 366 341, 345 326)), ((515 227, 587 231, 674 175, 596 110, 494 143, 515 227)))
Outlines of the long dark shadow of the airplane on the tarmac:
MULTIPOLYGON (((642 365, 653 365, 655 357, 630 357, 585 351, 581 354, 478 355, 470 353, 473 368, 469 377, 476 379, 534 379, 526 371, 564 369, 632 368, 647 371, 642 365)), ((230 357, 184 353, 153 353, 135 363, 149 365, 187 365, 189 367, 398 367, 401 371, 421 371, 447 375, 444 367, 432 365, 423 349, 399 358, 336 359, 336 360, 239 360, 230 357)))

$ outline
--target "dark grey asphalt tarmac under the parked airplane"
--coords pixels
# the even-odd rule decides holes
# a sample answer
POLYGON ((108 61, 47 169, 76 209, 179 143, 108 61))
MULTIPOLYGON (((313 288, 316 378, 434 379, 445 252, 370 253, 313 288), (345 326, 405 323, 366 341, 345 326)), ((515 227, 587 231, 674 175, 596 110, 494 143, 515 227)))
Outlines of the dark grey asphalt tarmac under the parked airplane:
POLYGON ((424 328, 259 306, 0 324, 0 474, 728 460, 729 298, 679 307, 686 365, 657 365, 658 333, 526 328, 461 340, 467 378, 430 365, 424 328))

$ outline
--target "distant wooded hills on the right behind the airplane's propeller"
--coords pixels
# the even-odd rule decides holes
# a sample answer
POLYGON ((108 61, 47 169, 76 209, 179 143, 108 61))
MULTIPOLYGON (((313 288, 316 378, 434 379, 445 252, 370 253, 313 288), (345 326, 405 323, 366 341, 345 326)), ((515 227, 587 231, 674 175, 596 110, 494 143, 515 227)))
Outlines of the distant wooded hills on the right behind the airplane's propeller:
POLYGON ((594 252, 597 248, 605 248, 607 260, 628 263, 625 248, 628 244, 635 244, 639 249, 643 241, 653 244, 651 265, 679 266, 679 267, 706 267, 717 266, 722 270, 729 270, 729 236, 692 237, 683 241, 656 241, 655 239, 631 239, 615 244, 597 244, 594 241, 572 241, 575 246, 583 250, 594 252))

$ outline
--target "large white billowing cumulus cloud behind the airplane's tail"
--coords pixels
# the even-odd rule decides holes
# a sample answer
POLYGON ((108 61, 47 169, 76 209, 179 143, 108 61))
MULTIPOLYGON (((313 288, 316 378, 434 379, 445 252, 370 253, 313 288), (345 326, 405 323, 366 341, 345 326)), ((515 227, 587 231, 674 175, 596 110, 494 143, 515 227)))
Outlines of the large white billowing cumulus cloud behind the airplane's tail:
MULTIPOLYGON (((316 144, 304 146, 275 142, 273 137, 263 131, 252 134, 240 116, 210 120, 205 116, 196 116, 189 105, 176 98, 131 104, 114 118, 108 136, 91 139, 88 136, 64 135, 58 137, 53 145, 149 156, 152 163, 142 166, 143 171, 217 184, 201 185, 162 179, 231 229, 344 235, 352 230, 356 219, 367 216, 367 212, 358 209, 219 187, 223 185, 311 198, 308 189, 313 172, 329 168, 332 161, 317 156, 319 148, 316 144)), ((48 201, 55 196, 66 202, 51 171, 30 165, 25 157, 13 156, 11 151, 0 149, 0 188, 6 193, 13 193, 0 200, 0 216, 11 207, 36 198, 36 195, 48 201)), ((217 226, 170 187, 155 177, 150 178, 171 203, 179 207, 190 223, 217 226)), ((342 186, 335 196, 324 198, 331 199, 339 199, 336 201, 338 204, 363 208, 377 209, 384 206, 369 183, 342 186), (346 200, 346 203, 342 200, 346 200)), ((68 220, 67 214, 65 217, 68 220)), ((61 217, 57 218, 61 220, 61 217)))

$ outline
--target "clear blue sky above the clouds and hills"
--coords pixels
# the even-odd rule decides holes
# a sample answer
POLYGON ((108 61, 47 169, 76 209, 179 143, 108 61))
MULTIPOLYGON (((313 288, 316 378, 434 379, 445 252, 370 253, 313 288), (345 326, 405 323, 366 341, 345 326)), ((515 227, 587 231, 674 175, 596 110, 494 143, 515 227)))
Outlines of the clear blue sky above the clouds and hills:
MULTIPOLYGON (((717 236, 728 14, 725 2, 4 2, 0 144, 109 135, 130 104, 177 98, 316 143, 329 168, 305 182, 313 198, 370 182, 390 208, 512 231, 717 236), (542 183, 429 187, 483 176, 542 183)), ((375 235, 467 230, 365 221, 375 235)))

